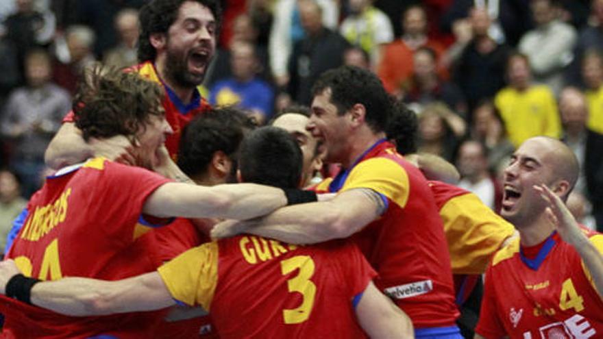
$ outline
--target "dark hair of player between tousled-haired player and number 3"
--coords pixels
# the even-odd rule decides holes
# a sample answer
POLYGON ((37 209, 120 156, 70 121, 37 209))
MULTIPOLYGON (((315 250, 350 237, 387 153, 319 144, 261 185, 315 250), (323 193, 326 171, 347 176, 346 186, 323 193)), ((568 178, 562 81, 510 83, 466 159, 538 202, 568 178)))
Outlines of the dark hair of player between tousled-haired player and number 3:
POLYGON ((204 112, 182 131, 178 167, 188 176, 204 174, 217 151, 236 161, 243 137, 254 128, 254 120, 236 108, 212 108, 204 112))

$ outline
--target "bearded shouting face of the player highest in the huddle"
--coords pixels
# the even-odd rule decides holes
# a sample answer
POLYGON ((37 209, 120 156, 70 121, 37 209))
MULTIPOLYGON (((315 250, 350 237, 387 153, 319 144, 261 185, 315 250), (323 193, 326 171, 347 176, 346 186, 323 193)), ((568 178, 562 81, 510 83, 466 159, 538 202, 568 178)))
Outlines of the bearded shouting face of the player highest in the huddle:
POLYGON ((216 48, 216 30, 209 8, 193 1, 182 3, 167 36, 156 41, 158 53, 165 53, 164 77, 185 88, 201 84, 216 48))

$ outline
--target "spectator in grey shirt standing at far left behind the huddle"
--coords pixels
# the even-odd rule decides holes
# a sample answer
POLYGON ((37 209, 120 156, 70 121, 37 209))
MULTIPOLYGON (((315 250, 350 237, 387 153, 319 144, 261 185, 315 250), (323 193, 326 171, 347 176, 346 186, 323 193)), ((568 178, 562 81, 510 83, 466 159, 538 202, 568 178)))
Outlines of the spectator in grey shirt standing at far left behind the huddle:
POLYGON ((49 54, 34 50, 25 58, 27 86, 11 93, 3 109, 1 132, 14 146, 10 164, 23 179, 26 197, 40 187, 44 151, 71 109, 69 92, 51 82, 49 54))

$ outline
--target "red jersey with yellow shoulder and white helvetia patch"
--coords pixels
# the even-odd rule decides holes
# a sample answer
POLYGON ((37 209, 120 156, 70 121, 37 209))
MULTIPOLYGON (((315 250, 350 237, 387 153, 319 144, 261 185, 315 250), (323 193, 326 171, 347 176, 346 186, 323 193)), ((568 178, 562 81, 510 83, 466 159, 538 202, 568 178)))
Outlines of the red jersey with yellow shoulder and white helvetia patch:
POLYGON ((442 220, 418 168, 385 140, 317 192, 370 188, 386 212, 352 238, 379 273, 376 285, 408 314, 415 328, 453 326, 458 316, 442 220))

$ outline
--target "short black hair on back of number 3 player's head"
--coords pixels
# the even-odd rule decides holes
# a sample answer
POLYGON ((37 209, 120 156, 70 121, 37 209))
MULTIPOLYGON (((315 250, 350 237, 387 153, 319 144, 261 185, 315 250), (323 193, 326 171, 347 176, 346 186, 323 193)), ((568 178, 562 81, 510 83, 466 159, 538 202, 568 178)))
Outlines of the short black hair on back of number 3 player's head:
POLYGON ((297 188, 302 179, 302 163, 302 151, 287 131, 264 126, 245 136, 238 169, 246 182, 297 188))

